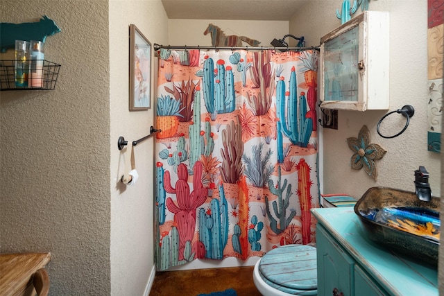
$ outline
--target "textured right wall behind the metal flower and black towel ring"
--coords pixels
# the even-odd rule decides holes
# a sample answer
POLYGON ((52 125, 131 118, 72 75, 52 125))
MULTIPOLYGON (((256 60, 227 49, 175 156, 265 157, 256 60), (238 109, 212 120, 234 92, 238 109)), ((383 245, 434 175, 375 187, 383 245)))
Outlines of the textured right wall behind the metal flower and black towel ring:
MULTIPOLYGON (((341 1, 310 1, 290 21, 290 32, 320 38, 341 24, 335 17, 341 1), (312 21, 312 20, 322 21, 312 21)), ((324 193, 349 193, 360 198, 372 186, 389 186, 414 191, 414 171, 425 166, 435 196, 441 196, 441 155, 427 151, 427 1, 370 1, 370 10, 390 14, 390 109, 412 105, 415 114, 409 128, 394 139, 377 134, 379 119, 388 111, 339 111, 338 130, 322 129, 324 136, 324 193), (375 182, 364 169, 350 168, 352 151, 346 139, 357 137, 363 125, 371 132, 372 142, 387 150, 377 160, 375 182)), ((357 13, 361 12, 359 10, 357 13)), ((311 44, 310 44, 311 45, 311 44)), ((314 44, 312 44, 314 45, 314 44)), ((384 120, 381 132, 396 134, 404 127, 404 117, 392 114, 384 120)))

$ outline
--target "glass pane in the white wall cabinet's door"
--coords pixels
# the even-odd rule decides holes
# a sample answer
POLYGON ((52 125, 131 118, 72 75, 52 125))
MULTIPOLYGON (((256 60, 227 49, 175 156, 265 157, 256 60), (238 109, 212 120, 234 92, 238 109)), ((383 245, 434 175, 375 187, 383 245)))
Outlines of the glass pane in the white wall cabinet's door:
POLYGON ((359 26, 325 42, 324 100, 358 101, 359 26))

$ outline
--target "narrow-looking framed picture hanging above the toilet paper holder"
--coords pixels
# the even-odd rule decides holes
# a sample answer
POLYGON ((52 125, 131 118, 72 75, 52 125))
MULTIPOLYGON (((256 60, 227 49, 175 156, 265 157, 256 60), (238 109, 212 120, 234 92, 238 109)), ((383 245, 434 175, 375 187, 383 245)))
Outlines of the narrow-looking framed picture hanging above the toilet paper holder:
POLYGON ((151 42, 130 24, 130 111, 151 108, 151 42))

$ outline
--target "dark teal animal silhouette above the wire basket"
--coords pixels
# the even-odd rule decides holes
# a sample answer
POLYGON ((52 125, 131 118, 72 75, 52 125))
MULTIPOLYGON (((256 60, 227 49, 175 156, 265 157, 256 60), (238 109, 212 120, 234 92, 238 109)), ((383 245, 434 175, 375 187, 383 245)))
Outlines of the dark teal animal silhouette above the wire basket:
POLYGON ((15 40, 45 42, 47 36, 60 32, 56 23, 44 15, 40 21, 12 24, 0 23, 0 50, 15 49, 15 40))

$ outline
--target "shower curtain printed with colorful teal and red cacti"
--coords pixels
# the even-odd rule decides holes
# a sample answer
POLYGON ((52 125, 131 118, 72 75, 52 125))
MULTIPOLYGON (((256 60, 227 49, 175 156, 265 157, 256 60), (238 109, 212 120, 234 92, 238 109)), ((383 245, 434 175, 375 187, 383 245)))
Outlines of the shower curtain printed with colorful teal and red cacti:
POLYGON ((317 51, 160 51, 157 270, 315 240, 317 51))

